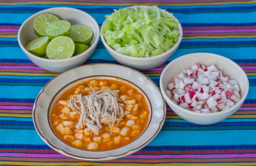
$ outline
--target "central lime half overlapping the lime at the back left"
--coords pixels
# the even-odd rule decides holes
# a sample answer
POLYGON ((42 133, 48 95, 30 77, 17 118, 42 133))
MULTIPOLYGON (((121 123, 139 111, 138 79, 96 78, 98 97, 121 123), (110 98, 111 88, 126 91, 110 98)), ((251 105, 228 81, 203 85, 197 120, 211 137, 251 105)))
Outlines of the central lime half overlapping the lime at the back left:
POLYGON ((45 33, 49 39, 54 39, 54 37, 70 35, 70 28, 69 21, 59 20, 49 24, 45 29, 45 33))

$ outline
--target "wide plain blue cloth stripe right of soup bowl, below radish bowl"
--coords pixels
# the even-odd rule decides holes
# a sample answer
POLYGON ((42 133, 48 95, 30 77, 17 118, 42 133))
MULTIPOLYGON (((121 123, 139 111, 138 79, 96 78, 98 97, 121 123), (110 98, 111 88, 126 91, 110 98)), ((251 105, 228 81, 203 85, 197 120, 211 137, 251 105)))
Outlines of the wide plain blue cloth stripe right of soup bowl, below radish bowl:
POLYGON ((149 146, 255 145, 255 136, 256 130, 161 131, 149 146))

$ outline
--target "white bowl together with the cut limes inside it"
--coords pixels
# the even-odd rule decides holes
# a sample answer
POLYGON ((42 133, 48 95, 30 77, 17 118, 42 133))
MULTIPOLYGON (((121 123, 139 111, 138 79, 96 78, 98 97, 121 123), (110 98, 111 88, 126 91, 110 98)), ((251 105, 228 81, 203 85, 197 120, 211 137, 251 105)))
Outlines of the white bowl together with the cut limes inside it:
POLYGON ((24 21, 17 35, 20 48, 36 65, 62 72, 79 66, 99 41, 99 25, 75 8, 49 8, 24 21))

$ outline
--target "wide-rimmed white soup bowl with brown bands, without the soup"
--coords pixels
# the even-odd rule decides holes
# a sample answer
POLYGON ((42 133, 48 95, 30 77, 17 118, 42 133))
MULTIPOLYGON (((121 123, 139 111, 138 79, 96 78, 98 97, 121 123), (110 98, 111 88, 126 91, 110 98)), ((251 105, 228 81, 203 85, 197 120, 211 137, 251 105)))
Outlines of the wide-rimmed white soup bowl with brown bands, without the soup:
POLYGON ((82 160, 111 160, 120 158, 145 147, 161 130, 166 118, 166 102, 157 85, 147 76, 134 69, 118 64, 88 64, 72 68, 50 80, 40 91, 33 107, 33 124, 42 140, 61 154, 82 160), (86 72, 85 72, 86 71, 86 72), (126 74, 124 74, 126 73, 126 74), (141 136, 133 142, 109 151, 85 151, 61 141, 51 129, 49 114, 51 102, 70 86, 92 77, 115 77, 134 84, 145 94, 151 107, 150 120, 141 136), (68 78, 68 79, 67 79, 68 78))

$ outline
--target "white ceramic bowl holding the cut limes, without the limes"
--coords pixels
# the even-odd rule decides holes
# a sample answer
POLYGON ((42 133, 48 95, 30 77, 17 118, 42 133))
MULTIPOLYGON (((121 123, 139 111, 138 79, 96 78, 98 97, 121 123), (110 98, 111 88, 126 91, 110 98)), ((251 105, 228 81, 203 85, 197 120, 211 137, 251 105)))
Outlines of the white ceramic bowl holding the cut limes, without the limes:
POLYGON ((90 57, 90 55, 95 50, 98 41, 99 41, 99 25, 97 24, 97 21, 95 21, 93 17, 88 15, 88 13, 75 8, 49 8, 49 9, 37 12, 31 17, 29 17, 28 19, 26 19, 26 21, 24 21, 22 26, 20 26, 19 32, 18 32, 19 46, 20 48, 22 48, 26 56, 29 57, 29 59, 31 59, 31 61, 36 65, 42 68, 45 68, 48 71, 54 71, 54 72, 65 71, 69 68, 72 68, 74 66, 79 66, 80 64, 83 64, 84 62, 86 62, 86 60, 90 57), (29 44, 29 42, 37 38, 37 36, 33 31, 33 21, 35 17, 43 13, 54 14, 60 19, 65 19, 67 21, 70 21, 71 25, 83 24, 83 25, 89 26, 93 30, 93 39, 91 40, 90 44, 88 44, 90 46, 88 50, 86 50, 85 52, 79 55, 76 55, 74 57, 70 57, 67 59, 45 59, 45 58, 33 55, 32 53, 29 53, 29 51, 25 49, 26 44, 29 44))

